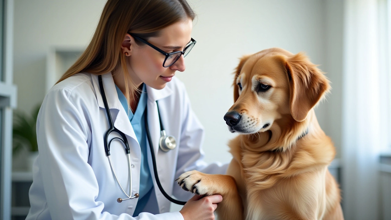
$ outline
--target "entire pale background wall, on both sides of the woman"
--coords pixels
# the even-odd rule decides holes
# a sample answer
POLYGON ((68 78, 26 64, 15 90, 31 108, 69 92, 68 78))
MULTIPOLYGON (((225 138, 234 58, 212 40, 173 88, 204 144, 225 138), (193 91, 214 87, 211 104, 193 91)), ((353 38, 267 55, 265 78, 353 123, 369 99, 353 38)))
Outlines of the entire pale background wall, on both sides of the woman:
MULTIPOLYGON (((15 0, 14 82, 18 109, 29 112, 45 95, 45 55, 51 46, 85 47, 105 0, 15 0)), ((234 137, 223 120, 233 104, 233 69, 243 54, 269 47, 305 51, 329 72, 333 93, 317 108, 319 123, 340 146, 342 0, 190 0, 198 17, 197 45, 177 73, 206 130, 206 161, 228 162, 234 137)), ((339 149, 337 149, 339 152, 339 149)))

